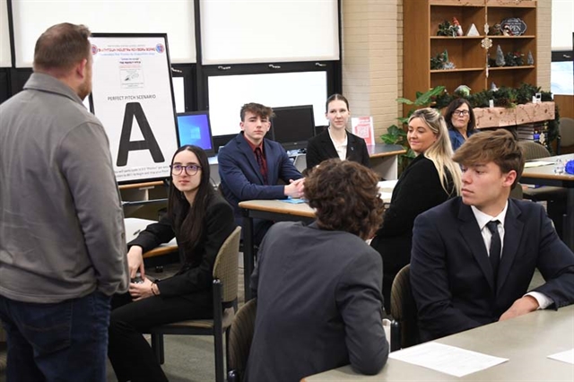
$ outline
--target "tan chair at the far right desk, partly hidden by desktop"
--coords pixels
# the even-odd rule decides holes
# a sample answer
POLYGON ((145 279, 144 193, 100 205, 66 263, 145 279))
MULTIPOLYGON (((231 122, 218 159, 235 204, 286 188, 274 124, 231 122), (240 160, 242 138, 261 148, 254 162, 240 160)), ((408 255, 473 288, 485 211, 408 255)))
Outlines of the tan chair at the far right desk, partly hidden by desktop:
MULTIPOLYGON (((525 149, 526 161, 550 156, 550 152, 540 143, 520 141, 518 144, 525 149)), ((533 202, 546 201, 546 213, 554 222, 554 227, 562 238, 563 214, 566 212, 566 188, 551 186, 525 188, 523 195, 525 199, 533 202)))

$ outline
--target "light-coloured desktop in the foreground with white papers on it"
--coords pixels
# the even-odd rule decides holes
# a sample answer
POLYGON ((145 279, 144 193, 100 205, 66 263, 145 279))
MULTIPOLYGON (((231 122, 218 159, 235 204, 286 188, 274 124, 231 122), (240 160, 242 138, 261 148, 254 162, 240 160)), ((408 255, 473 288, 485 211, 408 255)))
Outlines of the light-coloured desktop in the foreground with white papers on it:
MULTIPOLYGON (((508 358, 507 362, 462 378, 401 360, 387 361, 376 376, 362 376, 350 366, 329 370, 301 382, 344 381, 572 381, 574 366, 547 358, 574 348, 574 306, 538 310, 525 316, 477 327, 437 340, 462 349, 508 358)), ((400 351, 399 351, 400 352, 400 351)))

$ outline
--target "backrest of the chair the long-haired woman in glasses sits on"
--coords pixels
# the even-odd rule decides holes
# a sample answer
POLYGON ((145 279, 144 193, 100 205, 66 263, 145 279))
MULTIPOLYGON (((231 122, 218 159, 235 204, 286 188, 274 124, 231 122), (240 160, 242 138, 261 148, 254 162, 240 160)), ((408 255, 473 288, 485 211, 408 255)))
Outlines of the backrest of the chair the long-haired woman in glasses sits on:
POLYGON ((222 247, 215 257, 213 265, 213 279, 222 281, 223 301, 230 302, 237 298, 239 285, 239 239, 241 227, 237 227, 230 236, 223 241, 222 247))

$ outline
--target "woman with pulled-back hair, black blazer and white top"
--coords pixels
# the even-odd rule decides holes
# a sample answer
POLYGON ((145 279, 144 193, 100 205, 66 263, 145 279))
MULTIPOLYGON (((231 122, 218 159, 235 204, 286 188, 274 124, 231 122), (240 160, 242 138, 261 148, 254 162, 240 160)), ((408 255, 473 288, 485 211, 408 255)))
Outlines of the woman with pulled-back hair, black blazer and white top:
POLYGON ((346 130, 350 116, 349 101, 344 96, 333 94, 326 100, 325 117, 329 127, 307 144, 308 170, 331 158, 356 161, 370 167, 365 140, 346 130))

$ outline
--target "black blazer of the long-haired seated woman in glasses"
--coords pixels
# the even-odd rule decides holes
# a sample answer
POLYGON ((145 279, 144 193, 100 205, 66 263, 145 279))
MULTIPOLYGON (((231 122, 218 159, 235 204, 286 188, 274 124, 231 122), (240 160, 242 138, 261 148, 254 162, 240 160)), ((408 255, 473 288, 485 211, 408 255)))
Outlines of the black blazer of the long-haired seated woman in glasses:
MULTIPOLYGON (((182 267, 174 276, 158 282, 161 296, 178 296, 196 291, 211 293, 215 257, 217 257, 223 241, 230 236, 236 227, 233 210, 221 195, 213 195, 207 206, 204 227, 204 237, 196 247, 196 250, 200 252, 196 254, 196 257, 201 258, 201 260, 194 264, 187 264, 184 249, 179 247, 182 267)), ((128 246, 140 246, 143 248, 143 252, 147 252, 158 247, 161 243, 169 242, 174 237, 176 234, 173 230, 172 221, 166 214, 161 221, 148 225, 137 238, 128 243, 128 246)), ((176 239, 181 242, 179 238, 176 239)))

